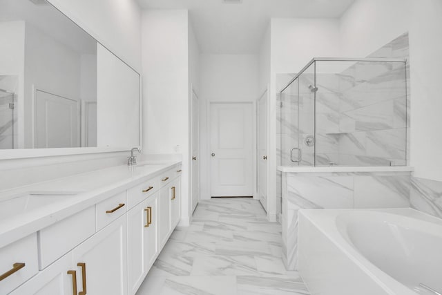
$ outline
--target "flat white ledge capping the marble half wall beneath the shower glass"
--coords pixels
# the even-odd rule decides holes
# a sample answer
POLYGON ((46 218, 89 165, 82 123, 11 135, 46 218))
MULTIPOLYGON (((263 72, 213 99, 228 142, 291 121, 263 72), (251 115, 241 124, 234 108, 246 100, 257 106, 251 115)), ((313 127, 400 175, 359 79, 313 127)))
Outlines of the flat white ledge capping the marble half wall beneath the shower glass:
POLYGON ((283 173, 412 172, 410 166, 278 166, 283 173))

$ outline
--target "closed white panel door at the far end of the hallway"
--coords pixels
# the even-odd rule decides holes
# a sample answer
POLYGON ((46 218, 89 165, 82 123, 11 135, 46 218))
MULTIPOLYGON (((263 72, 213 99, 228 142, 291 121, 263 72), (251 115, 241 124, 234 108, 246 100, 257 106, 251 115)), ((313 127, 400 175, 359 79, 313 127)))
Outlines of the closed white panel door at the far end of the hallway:
POLYGON ((253 104, 210 108, 211 196, 253 196, 253 104))

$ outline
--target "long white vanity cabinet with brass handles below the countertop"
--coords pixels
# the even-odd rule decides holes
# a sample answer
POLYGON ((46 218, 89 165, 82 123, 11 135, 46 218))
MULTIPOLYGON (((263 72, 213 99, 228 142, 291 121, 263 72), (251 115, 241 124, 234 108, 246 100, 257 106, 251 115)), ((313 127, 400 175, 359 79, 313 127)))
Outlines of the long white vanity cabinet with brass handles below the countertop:
MULTIPOLYGON (((18 271, 10 280, 15 285, 0 281, 0 294, 135 294, 180 220, 177 170, 139 182, 24 239, 32 244, 26 247, 32 273, 18 271)), ((22 242, 0 249, 1 260, 9 255, 3 250, 17 243, 22 242)))

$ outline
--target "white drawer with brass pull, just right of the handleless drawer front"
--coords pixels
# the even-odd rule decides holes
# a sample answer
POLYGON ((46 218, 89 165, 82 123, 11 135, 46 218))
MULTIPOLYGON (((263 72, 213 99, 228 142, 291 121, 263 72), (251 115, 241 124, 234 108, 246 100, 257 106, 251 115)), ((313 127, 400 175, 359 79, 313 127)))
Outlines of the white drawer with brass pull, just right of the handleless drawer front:
POLYGON ((127 193, 123 191, 117 195, 99 202, 95 205, 95 216, 97 218, 97 231, 106 227, 113 220, 126 213, 127 193))

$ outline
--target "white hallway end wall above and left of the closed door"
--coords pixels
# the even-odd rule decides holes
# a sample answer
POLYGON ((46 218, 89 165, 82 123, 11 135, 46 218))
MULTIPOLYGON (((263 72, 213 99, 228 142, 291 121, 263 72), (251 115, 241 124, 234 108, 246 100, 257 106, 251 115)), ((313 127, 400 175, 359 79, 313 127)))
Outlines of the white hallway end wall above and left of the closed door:
POLYGON ((258 99, 258 55, 209 55, 200 59, 201 198, 210 198, 209 102, 254 102, 258 99))

